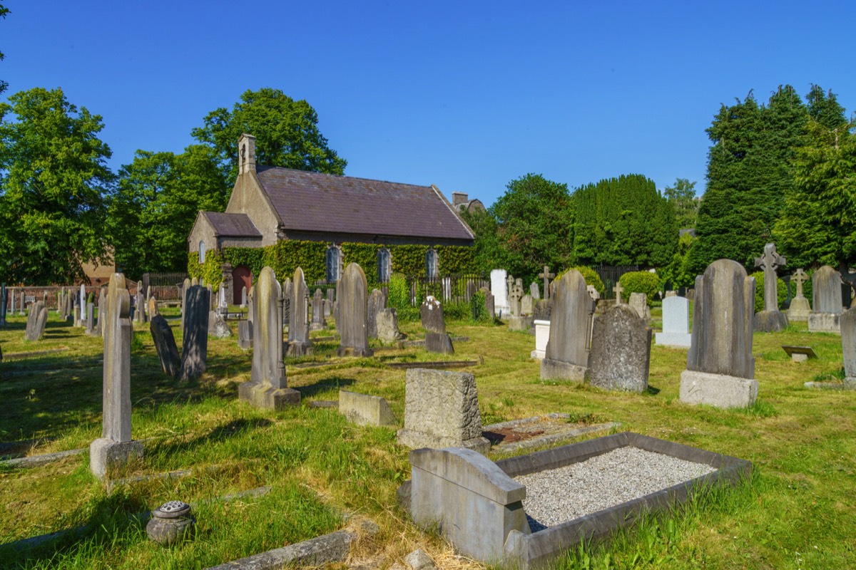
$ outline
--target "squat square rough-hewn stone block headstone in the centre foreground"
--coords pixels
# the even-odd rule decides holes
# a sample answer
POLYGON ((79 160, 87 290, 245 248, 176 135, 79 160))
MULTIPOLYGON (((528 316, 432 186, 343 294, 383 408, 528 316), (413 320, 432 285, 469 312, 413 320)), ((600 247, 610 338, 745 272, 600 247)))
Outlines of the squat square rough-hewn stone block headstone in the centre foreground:
POLYGON ((490 450, 490 442, 482 437, 479 392, 473 374, 407 369, 404 429, 398 432, 398 443, 413 449, 490 450))

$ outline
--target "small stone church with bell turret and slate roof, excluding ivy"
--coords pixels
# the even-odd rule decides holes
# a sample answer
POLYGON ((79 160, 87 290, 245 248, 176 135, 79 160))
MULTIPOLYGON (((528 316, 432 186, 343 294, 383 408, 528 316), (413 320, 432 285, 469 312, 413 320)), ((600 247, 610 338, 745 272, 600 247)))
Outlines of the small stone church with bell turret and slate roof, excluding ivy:
MULTIPOLYGON (((238 149, 238 178, 226 211, 200 211, 187 238, 199 262, 206 251, 224 247, 259 248, 289 239, 327 242, 324 262, 332 282, 342 273, 342 243, 427 245, 428 274, 443 263, 431 246, 473 245, 473 230, 458 214, 470 205, 466 195, 456 195, 453 205, 435 185, 257 165, 255 137, 248 134, 241 135, 238 149)), ((378 275, 386 278, 389 251, 378 250, 377 256, 378 275)), ((223 277, 227 298, 240 303, 241 286, 249 289, 253 282, 250 268, 224 267, 223 277)))

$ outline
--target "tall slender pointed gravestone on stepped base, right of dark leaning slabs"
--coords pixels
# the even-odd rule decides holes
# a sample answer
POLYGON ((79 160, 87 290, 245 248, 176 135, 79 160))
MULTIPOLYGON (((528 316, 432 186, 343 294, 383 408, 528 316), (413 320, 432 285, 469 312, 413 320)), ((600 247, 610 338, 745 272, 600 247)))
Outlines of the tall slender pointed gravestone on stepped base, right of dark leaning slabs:
POLYGON ((253 371, 238 386, 238 397, 258 408, 281 409, 300 403, 300 392, 288 388, 282 361, 282 288, 264 267, 249 296, 253 303, 253 371))

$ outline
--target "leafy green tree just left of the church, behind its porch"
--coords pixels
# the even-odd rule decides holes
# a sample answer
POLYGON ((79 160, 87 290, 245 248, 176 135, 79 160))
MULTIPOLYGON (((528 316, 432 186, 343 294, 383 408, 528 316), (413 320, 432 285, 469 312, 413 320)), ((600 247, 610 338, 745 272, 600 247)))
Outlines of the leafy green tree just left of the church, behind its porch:
POLYGON ((183 271, 197 213, 223 211, 228 192, 211 147, 193 144, 180 155, 137 150, 134 162, 120 169, 110 203, 116 266, 133 279, 183 271))

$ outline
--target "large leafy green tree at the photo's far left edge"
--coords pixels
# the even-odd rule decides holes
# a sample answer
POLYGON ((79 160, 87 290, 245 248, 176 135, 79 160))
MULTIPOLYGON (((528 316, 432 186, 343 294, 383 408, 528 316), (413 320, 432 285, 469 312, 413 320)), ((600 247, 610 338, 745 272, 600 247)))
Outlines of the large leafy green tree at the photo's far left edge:
POLYGON ((3 279, 69 283, 83 278, 82 263, 104 260, 104 197, 114 176, 103 128, 100 115, 78 110, 61 89, 0 103, 3 279))

